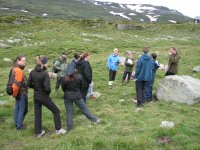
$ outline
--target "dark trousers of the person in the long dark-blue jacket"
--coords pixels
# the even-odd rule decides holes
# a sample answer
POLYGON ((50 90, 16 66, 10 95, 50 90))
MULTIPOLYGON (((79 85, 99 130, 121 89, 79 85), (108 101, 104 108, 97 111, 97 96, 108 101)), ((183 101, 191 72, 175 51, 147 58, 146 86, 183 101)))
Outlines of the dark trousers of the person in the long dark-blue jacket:
POLYGON ((145 86, 146 81, 136 81, 136 93, 137 93, 137 106, 140 107, 145 102, 145 86))

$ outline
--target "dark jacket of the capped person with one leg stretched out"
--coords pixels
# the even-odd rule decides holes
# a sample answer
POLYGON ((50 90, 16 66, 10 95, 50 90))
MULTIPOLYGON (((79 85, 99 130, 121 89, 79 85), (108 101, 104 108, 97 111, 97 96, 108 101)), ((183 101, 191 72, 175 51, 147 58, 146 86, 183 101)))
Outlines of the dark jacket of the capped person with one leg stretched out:
POLYGON ((70 100, 81 99, 82 85, 83 85, 83 80, 80 74, 77 74, 76 79, 73 81, 63 80, 62 90, 65 93, 64 94, 65 99, 70 99, 70 100))

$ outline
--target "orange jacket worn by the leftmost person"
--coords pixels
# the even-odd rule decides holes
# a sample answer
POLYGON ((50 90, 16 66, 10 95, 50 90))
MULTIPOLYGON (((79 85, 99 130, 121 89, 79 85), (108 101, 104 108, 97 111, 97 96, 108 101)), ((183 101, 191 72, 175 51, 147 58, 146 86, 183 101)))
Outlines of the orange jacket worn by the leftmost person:
POLYGON ((20 69, 19 67, 14 67, 13 68, 14 71, 14 83, 12 84, 12 88, 13 88, 13 97, 16 97, 19 93, 20 87, 22 85, 23 82, 23 78, 24 78, 24 73, 22 71, 22 69, 20 69))

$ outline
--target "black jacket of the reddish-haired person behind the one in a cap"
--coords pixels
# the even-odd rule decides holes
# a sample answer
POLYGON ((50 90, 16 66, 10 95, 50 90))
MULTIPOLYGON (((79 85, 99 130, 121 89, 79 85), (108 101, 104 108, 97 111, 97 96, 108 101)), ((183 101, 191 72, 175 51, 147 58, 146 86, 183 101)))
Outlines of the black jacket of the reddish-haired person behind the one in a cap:
POLYGON ((92 82, 92 68, 89 61, 79 60, 77 62, 77 70, 83 78, 83 87, 88 87, 92 82))

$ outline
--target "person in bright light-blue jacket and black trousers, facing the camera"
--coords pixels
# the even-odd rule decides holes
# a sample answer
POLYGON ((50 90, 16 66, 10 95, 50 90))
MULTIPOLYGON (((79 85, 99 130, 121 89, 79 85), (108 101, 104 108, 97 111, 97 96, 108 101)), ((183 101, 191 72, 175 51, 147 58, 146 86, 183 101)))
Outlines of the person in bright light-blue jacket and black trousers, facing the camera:
POLYGON ((108 85, 112 88, 113 81, 117 73, 117 66, 119 65, 118 49, 113 50, 113 54, 108 57, 108 69, 109 69, 109 82, 108 85))

